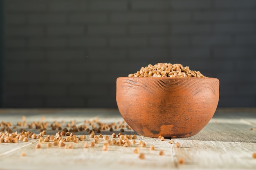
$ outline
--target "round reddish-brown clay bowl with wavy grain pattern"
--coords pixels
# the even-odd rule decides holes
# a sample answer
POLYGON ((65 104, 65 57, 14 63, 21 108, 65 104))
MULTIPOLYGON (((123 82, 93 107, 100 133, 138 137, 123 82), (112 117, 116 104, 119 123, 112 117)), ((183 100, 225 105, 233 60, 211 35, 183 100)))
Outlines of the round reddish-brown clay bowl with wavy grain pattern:
POLYGON ((116 99, 121 116, 139 135, 190 137, 213 117, 219 101, 219 80, 119 77, 116 99))

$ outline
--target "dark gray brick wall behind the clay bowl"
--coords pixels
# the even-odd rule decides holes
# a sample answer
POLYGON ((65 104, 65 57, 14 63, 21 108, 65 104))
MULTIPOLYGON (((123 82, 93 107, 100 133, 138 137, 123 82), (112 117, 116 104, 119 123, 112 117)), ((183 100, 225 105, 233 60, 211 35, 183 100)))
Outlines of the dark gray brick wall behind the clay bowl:
POLYGON ((4 0, 3 107, 117 107, 115 81, 181 63, 256 106, 256 0, 4 0))

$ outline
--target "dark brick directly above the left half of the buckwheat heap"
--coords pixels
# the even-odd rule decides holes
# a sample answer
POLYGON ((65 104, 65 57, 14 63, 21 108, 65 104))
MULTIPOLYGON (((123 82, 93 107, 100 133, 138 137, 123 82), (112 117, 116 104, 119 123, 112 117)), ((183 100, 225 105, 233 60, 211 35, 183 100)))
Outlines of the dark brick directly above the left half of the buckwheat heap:
POLYGON ((138 49, 130 50, 130 60, 166 60, 168 49, 138 49))

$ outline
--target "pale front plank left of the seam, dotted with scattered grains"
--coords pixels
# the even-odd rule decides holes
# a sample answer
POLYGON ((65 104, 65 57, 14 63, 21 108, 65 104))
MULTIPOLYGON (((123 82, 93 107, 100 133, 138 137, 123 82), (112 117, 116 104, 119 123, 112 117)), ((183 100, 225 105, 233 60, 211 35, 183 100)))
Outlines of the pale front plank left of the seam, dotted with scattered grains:
MULTIPOLYGON (((139 137, 136 141, 144 140, 147 144, 145 148, 139 147, 138 144, 131 147, 123 147, 112 145, 107 151, 102 150, 103 139, 100 139, 99 144, 95 144, 94 147, 83 148, 84 143, 90 143, 93 139, 89 136, 85 141, 81 141, 78 144, 73 144, 74 149, 65 149, 58 146, 47 148, 46 144, 41 144, 42 148, 36 149, 36 143, 27 146, 26 148, 20 148, 15 152, 12 152, 5 157, 0 157, 0 163, 2 169, 9 169, 9 165, 13 160, 15 164, 11 166, 11 169, 19 168, 20 170, 27 169, 49 169, 56 170, 67 169, 67 167, 86 168, 92 169, 170 169, 175 168, 173 155, 171 152, 170 144, 168 141, 159 141, 159 139, 139 137), (150 145, 155 144, 155 150, 149 149, 150 145), (139 152, 145 154, 145 159, 139 159, 139 155, 133 153, 133 150, 139 147, 139 152), (165 155, 160 156, 159 151, 164 150, 165 155), (21 157, 20 153, 25 152, 26 156, 21 157), (3 163, 4 162, 4 163, 3 163), (26 166, 29 163, 29 168, 26 166), (38 165, 42 165, 38 166, 38 165), (56 166, 58 165, 58 166, 56 166)), ((65 142, 69 144, 69 142, 65 142)))

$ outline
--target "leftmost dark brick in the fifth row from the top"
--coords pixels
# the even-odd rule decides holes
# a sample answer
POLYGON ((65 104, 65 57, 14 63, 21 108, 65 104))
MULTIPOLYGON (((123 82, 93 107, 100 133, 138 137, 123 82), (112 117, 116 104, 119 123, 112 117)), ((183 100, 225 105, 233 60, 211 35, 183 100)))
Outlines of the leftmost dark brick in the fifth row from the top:
POLYGON ((33 50, 15 50, 5 51, 5 60, 23 61, 23 60, 43 60, 44 51, 33 50))

